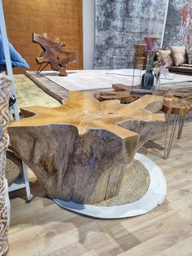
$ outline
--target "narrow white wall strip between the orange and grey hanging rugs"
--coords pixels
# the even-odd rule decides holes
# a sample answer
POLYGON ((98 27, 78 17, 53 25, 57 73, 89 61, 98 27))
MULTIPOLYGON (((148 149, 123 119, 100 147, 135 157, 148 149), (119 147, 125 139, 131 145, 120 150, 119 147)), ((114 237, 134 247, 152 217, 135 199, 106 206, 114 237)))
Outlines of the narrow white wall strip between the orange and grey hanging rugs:
POLYGON ((94 68, 94 0, 83 0, 83 63, 94 68))

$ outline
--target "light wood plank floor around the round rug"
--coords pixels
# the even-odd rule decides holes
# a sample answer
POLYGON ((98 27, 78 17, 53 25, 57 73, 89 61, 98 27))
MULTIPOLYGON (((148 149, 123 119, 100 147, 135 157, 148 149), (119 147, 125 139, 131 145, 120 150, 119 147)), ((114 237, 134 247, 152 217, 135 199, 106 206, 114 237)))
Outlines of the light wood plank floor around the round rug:
POLYGON ((185 123, 168 160, 147 157, 164 171, 168 196, 150 213, 120 220, 85 218, 61 209, 30 173, 33 201, 25 203, 24 190, 11 195, 7 255, 192 255, 192 121, 185 123))

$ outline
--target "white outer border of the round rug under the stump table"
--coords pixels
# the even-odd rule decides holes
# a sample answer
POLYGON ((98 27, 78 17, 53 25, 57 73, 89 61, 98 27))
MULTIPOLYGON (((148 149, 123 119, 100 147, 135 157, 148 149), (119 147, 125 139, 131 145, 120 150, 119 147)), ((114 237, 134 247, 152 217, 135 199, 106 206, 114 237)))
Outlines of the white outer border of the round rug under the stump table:
POLYGON ((59 199, 53 201, 64 209, 94 218, 126 218, 146 214, 163 203, 167 193, 167 183, 162 170, 153 161, 139 153, 136 153, 134 158, 146 167, 151 178, 146 194, 138 201, 114 206, 83 205, 59 199))

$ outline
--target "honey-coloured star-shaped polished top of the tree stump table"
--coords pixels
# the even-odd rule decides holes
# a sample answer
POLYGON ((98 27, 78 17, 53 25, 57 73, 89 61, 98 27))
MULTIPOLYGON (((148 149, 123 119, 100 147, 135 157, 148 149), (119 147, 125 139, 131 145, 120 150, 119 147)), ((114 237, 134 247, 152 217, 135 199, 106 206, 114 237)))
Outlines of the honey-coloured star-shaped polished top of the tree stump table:
POLYGON ((14 126, 43 126, 68 124, 84 134, 89 128, 111 130, 123 137, 132 135, 129 130, 120 131, 118 124, 125 120, 164 121, 164 114, 155 114, 162 105, 163 97, 146 95, 132 104, 120 104, 118 100, 98 102, 93 92, 70 92, 69 98, 59 108, 24 108, 24 119, 11 122, 14 126), (154 113, 154 114, 151 114, 154 113))

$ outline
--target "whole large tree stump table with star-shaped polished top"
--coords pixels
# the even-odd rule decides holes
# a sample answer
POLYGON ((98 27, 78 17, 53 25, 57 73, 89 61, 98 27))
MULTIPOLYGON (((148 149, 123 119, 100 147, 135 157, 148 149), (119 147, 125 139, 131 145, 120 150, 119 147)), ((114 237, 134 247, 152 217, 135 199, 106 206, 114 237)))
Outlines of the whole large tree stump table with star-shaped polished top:
POLYGON ((116 196, 137 148, 164 126, 161 96, 125 105, 70 92, 59 108, 24 108, 9 127, 11 146, 50 198, 94 204, 116 196))

